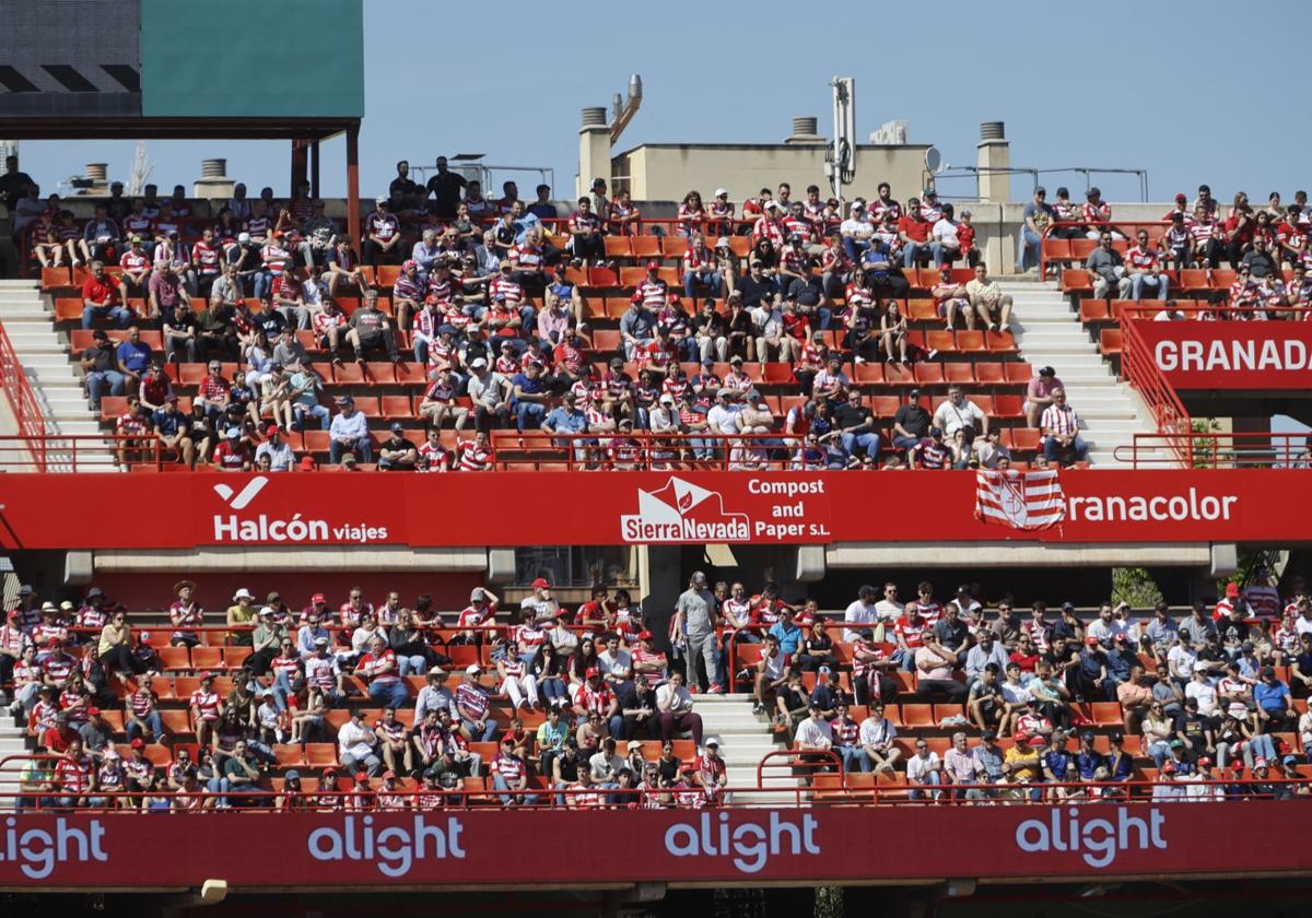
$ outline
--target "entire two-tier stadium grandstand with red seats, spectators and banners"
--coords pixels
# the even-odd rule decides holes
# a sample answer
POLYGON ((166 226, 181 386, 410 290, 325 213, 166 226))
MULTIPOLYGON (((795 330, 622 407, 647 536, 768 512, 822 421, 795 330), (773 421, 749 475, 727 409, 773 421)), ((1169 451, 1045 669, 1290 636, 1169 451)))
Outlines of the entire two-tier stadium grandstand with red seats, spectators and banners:
POLYGON ((634 77, 572 189, 362 177, 324 3, 286 100, 161 58, 232 16, 164 0, 77 0, 131 8, 97 98, 0 66, 13 914, 1298 908, 1305 193, 1050 195, 985 122, 941 194, 840 77, 829 140, 670 169, 613 150, 634 77), (29 174, 100 136, 291 176, 29 174))

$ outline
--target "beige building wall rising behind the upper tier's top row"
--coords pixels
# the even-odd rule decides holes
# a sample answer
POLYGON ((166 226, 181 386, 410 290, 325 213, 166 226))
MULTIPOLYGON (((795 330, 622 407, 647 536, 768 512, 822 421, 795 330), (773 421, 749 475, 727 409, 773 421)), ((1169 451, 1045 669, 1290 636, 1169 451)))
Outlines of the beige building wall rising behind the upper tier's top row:
MULTIPOLYGON (((871 198, 882 181, 892 185, 893 197, 918 195, 925 180, 928 144, 905 147, 857 147, 857 181, 845 186, 844 198, 871 198)), ((807 185, 819 185, 829 197, 824 173, 825 144, 643 144, 611 160, 617 188, 628 188, 635 201, 682 201, 690 190, 710 201, 716 188, 726 188, 729 201, 743 201, 762 188, 779 182, 792 186, 792 197, 806 197, 807 185)))

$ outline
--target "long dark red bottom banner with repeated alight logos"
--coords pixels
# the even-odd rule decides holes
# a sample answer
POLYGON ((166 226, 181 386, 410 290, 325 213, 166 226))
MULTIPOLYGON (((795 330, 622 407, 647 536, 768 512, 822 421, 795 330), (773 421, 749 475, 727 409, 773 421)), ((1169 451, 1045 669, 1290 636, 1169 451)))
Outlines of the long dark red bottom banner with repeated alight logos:
POLYGON ((0 888, 812 883, 869 880, 872 864, 890 881, 1308 873, 1307 816, 1302 801, 9 816, 0 888), (623 843, 588 843, 607 838, 623 843), (928 839, 971 855, 930 856, 928 839))

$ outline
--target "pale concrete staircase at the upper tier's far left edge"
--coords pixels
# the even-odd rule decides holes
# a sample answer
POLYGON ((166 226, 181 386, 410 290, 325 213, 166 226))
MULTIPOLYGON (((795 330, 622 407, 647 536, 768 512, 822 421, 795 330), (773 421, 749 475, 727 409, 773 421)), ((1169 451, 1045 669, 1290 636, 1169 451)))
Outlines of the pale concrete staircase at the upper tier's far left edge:
MULTIPOLYGON (((68 342, 51 324, 51 312, 34 281, 0 281, 0 324, 41 405, 49 434, 98 434, 100 418, 87 405, 68 342)), ((52 443, 52 467, 60 452, 52 443)), ((79 471, 117 471, 108 450, 79 452, 79 471)))

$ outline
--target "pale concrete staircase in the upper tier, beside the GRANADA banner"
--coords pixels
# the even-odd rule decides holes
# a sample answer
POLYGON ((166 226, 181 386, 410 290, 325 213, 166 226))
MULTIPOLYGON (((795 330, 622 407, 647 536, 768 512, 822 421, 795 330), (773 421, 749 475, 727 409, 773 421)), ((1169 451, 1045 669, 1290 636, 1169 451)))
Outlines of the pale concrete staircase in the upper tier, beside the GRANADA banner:
POLYGON ((1056 369, 1065 383, 1071 407, 1085 421, 1089 460, 1102 468, 1128 464, 1117 459, 1115 449, 1131 446, 1136 433, 1157 431, 1139 395, 1117 378, 1056 283, 1019 278, 997 283, 1014 303, 1012 328, 1022 359, 1056 369))

